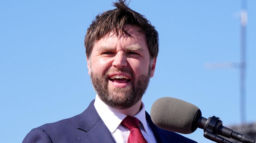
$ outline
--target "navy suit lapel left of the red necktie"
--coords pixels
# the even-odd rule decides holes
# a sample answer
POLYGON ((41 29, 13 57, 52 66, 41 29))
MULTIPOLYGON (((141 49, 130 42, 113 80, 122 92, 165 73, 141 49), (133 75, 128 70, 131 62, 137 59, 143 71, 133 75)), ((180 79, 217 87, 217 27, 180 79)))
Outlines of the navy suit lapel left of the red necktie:
POLYGON ((78 137, 81 143, 115 143, 114 138, 94 107, 94 100, 80 114, 77 128, 85 131, 85 134, 78 137))

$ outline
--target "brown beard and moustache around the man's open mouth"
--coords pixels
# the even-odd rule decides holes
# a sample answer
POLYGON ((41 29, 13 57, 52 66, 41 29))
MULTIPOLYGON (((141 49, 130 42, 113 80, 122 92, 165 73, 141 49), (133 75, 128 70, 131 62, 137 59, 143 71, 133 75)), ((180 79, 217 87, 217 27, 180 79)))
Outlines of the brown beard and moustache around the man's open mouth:
MULTIPOLYGON (((150 64, 151 65, 151 64, 150 64)), ((125 88, 108 88, 108 73, 113 71, 126 72, 133 75, 129 69, 108 69, 104 75, 94 74, 91 69, 91 82, 99 98, 108 106, 115 109, 128 109, 135 105, 146 92, 149 84, 151 66, 148 74, 140 75, 137 80, 132 76, 131 85, 125 88)))

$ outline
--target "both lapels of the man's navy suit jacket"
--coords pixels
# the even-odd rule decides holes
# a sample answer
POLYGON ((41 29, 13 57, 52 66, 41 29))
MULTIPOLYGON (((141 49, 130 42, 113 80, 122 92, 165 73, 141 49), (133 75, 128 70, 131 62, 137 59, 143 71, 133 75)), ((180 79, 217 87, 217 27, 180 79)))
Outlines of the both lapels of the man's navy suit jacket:
MULTIPOLYGON (((171 134, 163 129, 157 127, 151 120, 150 115, 146 112, 146 120, 152 129, 154 136, 158 143, 173 143, 171 141, 171 134)), ((94 107, 94 100, 90 103, 89 107, 84 110, 80 116, 77 128, 84 130, 85 134, 79 136, 78 139, 81 143, 87 142, 108 142, 115 143, 107 126, 100 118, 98 112, 94 107)))

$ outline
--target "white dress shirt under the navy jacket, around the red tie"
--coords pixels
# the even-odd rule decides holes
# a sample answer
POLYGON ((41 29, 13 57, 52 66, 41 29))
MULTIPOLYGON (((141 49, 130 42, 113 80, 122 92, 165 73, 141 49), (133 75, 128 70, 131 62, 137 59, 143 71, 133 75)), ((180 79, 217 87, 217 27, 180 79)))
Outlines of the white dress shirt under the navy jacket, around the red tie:
MULTIPOLYGON (((96 95, 94 106, 101 119, 109 129, 111 135, 117 143, 127 143, 130 131, 121 125, 122 120, 127 116, 116 109, 109 107, 96 95)), ((141 110, 134 116, 141 122, 139 124, 141 133, 148 143, 157 143, 154 133, 151 130, 145 116, 145 107, 142 103, 141 110)))

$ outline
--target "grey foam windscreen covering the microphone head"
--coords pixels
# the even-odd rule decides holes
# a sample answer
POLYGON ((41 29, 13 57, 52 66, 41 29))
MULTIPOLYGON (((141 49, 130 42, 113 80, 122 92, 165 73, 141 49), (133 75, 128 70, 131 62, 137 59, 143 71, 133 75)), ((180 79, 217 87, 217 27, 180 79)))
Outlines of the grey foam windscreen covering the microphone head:
POLYGON ((162 129, 190 134, 197 129, 196 124, 202 113, 191 103, 164 97, 154 102, 150 115, 154 124, 162 129))

